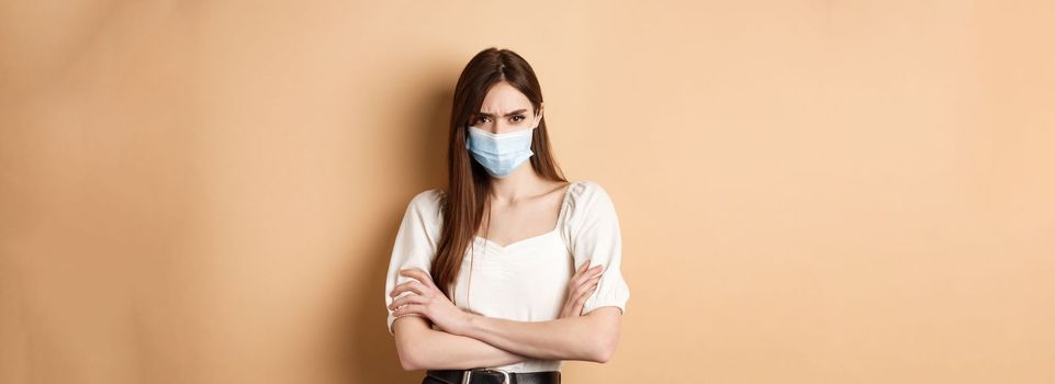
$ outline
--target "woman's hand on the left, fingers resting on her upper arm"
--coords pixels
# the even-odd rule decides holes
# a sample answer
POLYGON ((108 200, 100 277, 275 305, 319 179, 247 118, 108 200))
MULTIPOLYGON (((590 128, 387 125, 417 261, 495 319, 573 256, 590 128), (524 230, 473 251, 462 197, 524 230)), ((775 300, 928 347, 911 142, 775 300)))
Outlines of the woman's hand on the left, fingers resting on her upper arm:
POLYGON ((460 332, 467 326, 471 314, 454 306, 447 298, 447 295, 436 287, 433 279, 425 271, 417 268, 405 269, 401 270, 400 274, 416 280, 396 285, 392 290, 390 294, 392 297, 399 297, 404 292, 411 292, 411 294, 396 298, 389 305, 390 310, 394 309, 393 316, 396 318, 411 314, 425 316, 439 326, 441 330, 452 335, 461 335, 460 332))

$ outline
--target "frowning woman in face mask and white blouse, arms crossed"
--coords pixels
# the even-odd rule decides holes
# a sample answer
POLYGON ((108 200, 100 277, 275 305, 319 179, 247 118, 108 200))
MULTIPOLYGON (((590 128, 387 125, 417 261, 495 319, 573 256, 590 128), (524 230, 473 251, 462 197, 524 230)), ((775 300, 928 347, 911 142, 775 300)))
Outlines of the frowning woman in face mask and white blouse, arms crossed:
POLYGON ((389 332, 423 383, 560 383, 562 360, 616 348, 619 222, 601 185, 564 179, 542 106, 512 50, 480 52, 458 79, 448 189, 411 200, 385 282, 389 332))

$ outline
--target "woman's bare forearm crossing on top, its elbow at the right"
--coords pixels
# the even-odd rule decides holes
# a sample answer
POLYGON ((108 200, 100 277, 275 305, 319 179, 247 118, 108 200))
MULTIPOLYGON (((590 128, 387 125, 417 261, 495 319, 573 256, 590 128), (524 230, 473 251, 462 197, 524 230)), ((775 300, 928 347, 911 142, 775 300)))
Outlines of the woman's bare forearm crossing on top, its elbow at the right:
MULTIPOLYGON (((545 360, 604 362, 610 327, 597 317, 576 316, 549 321, 516 321, 472 316, 462 336, 513 353, 545 360)), ((613 347, 613 348, 608 348, 613 347)))

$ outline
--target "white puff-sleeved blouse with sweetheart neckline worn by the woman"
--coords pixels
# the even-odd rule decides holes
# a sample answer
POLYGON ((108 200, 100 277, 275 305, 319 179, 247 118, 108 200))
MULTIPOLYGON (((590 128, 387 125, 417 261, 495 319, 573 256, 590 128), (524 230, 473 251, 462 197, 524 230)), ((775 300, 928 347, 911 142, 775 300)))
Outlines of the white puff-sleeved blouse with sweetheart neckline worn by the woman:
MULTIPOLYGON (((415 195, 407 205, 389 262, 385 306, 394 301, 389 296, 392 290, 412 280, 400 275, 401 269, 429 271, 442 228, 444 197, 441 189, 431 189, 415 195)), ((604 306, 626 313, 630 290, 622 279, 621 259, 619 221, 611 199, 596 182, 572 181, 564 192, 557 225, 550 231, 506 246, 481 236, 473 238, 453 285, 453 302, 460 308, 493 318, 557 319, 569 280, 590 261, 591 266, 605 267, 596 291, 583 305, 583 315, 604 306)), ((393 334, 393 321, 395 317, 389 310, 389 334, 393 334)), ((509 372, 559 371, 561 360, 532 359, 492 368, 509 372)))

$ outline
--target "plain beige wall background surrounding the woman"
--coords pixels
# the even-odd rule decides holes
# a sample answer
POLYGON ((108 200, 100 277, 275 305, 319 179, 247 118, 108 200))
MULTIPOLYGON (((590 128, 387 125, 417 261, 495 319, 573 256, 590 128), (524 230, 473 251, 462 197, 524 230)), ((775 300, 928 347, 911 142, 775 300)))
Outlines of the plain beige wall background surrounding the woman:
POLYGON ((569 383, 1055 382, 1050 1, 0 3, 0 382, 417 383, 462 66, 536 68, 631 287, 569 383))

